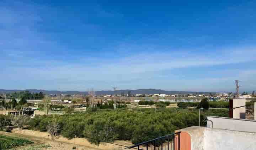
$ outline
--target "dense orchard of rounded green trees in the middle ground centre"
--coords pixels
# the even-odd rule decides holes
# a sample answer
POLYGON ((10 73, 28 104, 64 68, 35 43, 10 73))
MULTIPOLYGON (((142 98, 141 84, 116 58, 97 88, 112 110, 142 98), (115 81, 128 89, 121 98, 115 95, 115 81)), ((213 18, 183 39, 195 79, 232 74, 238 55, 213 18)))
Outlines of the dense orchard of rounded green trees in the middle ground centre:
MULTIPOLYGON (((202 112, 202 118, 204 115, 228 117, 228 111, 208 110, 202 112)), ((36 116, 30 120, 30 128, 46 132, 52 117, 36 116)), ((55 117, 59 125, 58 134, 69 139, 87 138, 96 145, 102 140, 131 140, 137 144, 199 124, 198 109, 179 108, 100 109, 55 117)))

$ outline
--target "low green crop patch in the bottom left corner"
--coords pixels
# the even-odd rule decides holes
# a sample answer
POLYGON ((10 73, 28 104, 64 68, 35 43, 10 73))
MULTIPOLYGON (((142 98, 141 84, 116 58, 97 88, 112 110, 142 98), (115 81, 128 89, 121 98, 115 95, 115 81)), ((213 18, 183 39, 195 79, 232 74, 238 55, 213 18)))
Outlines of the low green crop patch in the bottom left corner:
POLYGON ((14 148, 16 146, 23 146, 26 144, 32 144, 32 141, 26 140, 26 139, 20 139, 20 138, 15 138, 11 136, 6 136, 6 135, 0 135, 0 149, 2 150, 7 150, 14 148))

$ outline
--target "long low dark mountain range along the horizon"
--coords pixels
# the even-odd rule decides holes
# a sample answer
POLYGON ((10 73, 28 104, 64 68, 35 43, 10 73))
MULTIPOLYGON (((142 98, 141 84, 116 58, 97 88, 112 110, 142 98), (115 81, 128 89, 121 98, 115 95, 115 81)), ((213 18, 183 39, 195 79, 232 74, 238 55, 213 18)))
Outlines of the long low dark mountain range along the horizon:
MULTIPOLYGON (((81 91, 48 91, 48 90, 37 90, 37 89, 27 89, 31 93, 39 93, 42 92, 44 94, 88 94, 87 91, 81 92, 81 91)), ((12 93, 12 92, 20 92, 25 90, 4 90, 0 89, 0 93, 12 93)), ((132 94, 190 94, 190 93, 210 93, 210 92, 189 92, 189 91, 164 91, 160 89, 138 89, 138 90, 116 90, 116 91, 95 91, 96 95, 108 95, 108 94, 121 94, 122 92, 127 94, 128 91, 131 91, 132 94)))

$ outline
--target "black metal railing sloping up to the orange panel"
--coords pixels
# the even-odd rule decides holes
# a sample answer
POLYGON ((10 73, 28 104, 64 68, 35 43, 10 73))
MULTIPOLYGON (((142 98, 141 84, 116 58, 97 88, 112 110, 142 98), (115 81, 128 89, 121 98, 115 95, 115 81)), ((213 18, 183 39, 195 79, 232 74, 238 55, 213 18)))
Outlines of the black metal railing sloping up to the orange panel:
POLYGON ((153 140, 145 141, 127 149, 138 149, 138 150, 180 150, 180 133, 176 132, 173 134, 165 135, 153 140))

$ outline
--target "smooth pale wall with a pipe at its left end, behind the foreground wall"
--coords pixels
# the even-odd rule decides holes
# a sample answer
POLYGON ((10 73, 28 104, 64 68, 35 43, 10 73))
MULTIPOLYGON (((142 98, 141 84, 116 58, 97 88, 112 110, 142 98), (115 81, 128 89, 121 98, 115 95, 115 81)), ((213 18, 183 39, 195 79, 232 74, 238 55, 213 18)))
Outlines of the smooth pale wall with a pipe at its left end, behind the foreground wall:
POLYGON ((207 128, 217 128, 256 133, 256 120, 207 116, 207 128), (212 127, 212 122, 213 127, 212 127))

